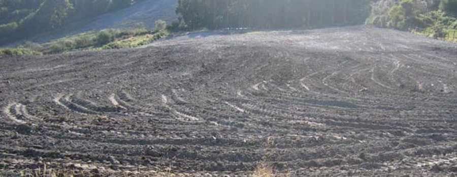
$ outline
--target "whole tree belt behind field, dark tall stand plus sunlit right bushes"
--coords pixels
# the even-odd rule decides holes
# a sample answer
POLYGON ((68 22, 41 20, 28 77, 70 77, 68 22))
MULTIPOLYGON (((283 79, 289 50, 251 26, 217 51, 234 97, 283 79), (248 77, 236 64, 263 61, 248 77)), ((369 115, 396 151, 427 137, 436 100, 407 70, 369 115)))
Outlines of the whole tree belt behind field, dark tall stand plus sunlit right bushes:
POLYGON ((455 36, 457 0, 180 0, 171 29, 363 24, 455 36), (451 34, 452 33, 452 34, 451 34))

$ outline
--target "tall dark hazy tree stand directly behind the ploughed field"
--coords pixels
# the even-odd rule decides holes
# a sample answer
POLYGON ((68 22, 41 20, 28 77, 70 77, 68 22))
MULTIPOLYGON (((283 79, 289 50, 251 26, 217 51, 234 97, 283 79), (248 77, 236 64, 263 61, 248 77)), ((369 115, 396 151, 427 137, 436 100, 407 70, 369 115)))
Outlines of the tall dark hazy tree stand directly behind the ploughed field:
POLYGON ((189 29, 278 28, 361 24, 370 0, 180 0, 189 29))

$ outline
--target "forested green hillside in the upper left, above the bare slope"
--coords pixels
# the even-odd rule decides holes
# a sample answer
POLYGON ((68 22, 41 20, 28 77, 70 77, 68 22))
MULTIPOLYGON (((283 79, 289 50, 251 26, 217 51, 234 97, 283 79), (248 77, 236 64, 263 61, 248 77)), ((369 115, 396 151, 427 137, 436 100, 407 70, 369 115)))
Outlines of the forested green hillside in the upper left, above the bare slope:
POLYGON ((141 0, 0 0, 0 44, 115 11, 141 0))

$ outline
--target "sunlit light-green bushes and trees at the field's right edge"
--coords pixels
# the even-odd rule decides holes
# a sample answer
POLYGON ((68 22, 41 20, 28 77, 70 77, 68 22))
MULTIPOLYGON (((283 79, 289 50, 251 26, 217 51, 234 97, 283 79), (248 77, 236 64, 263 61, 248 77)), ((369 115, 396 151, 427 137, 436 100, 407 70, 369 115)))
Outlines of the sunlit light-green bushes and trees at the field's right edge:
POLYGON ((457 0, 387 0, 372 5, 367 24, 410 30, 431 38, 455 41, 457 0))

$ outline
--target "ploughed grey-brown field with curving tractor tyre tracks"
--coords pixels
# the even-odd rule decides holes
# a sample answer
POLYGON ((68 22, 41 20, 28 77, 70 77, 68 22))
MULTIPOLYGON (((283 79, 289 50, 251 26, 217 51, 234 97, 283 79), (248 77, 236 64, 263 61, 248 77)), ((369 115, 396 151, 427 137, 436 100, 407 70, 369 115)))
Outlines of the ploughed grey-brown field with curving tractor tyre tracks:
POLYGON ((1 56, 0 167, 450 174, 456 64, 455 44, 364 26, 1 56))

